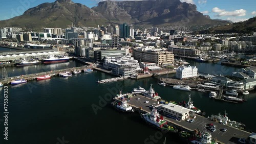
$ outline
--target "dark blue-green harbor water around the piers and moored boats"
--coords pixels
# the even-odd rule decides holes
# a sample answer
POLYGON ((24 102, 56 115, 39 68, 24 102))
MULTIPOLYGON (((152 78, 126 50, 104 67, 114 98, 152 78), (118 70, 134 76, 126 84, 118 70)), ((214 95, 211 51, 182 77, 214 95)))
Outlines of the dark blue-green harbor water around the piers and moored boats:
MULTIPOLYGON (((209 74, 229 75, 238 68, 218 63, 198 63, 199 71, 209 74), (212 71, 216 71, 213 73, 212 71)), ((31 65, 7 67, 8 75, 21 76, 41 71, 81 66, 76 61, 69 64, 31 65)), ((0 71, 2 73, 2 70, 0 71)), ((174 76, 174 75, 169 75, 174 76)), ((163 76, 165 77, 165 76, 163 76)), ((3 117, 0 118, 1 143, 180 143, 178 134, 163 134, 145 124, 138 113, 121 113, 110 107, 111 96, 122 89, 131 92, 141 86, 148 90, 150 84, 159 96, 167 101, 188 101, 210 114, 228 113, 229 119, 241 122, 251 131, 256 131, 253 111, 256 92, 246 95, 247 102, 233 104, 209 99, 208 92, 181 91, 170 86, 160 86, 160 76, 140 80, 127 79, 98 84, 98 80, 113 76, 93 71, 69 78, 53 77, 49 80, 30 81, 26 84, 8 86, 8 141, 3 141, 3 117), (2 121, 1 121, 2 120, 2 121), (153 137, 153 139, 152 139, 153 137), (2 142, 3 141, 3 142, 2 142)), ((0 88, 0 113, 4 112, 4 88, 0 88)), ((205 122, 209 123, 209 122, 205 122)))

